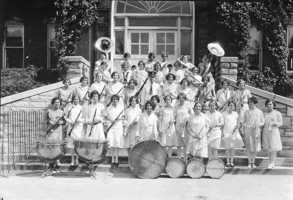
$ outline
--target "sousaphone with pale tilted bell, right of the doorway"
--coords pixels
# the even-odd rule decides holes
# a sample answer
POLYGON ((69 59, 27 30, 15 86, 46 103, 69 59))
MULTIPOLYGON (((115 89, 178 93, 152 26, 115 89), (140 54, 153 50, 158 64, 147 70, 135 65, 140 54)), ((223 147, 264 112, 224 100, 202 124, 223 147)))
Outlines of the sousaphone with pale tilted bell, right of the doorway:
POLYGON ((219 57, 223 56, 225 54, 224 49, 216 43, 209 43, 208 49, 210 51, 208 55, 207 64, 205 65, 204 70, 201 71, 200 75, 205 76, 211 67, 212 62, 214 63, 219 57))

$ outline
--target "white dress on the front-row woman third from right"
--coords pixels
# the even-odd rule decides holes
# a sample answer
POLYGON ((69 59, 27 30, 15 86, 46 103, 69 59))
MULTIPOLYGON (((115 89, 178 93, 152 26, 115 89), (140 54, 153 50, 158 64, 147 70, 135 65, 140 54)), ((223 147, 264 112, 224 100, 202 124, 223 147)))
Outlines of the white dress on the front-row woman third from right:
POLYGON ((244 146, 244 143, 239 131, 237 130, 236 133, 233 134, 234 127, 237 124, 238 113, 232 111, 231 114, 229 114, 228 111, 224 111, 222 115, 224 118, 224 126, 221 146, 226 149, 241 148, 244 146))

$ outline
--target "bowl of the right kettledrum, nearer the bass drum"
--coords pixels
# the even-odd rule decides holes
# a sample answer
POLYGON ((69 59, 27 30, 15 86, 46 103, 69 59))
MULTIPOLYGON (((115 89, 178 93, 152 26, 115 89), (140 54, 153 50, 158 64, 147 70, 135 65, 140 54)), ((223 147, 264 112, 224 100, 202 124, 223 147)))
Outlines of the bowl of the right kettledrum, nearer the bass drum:
POLYGON ((108 149, 106 139, 75 139, 74 150, 78 157, 86 162, 96 162, 105 157, 108 149))

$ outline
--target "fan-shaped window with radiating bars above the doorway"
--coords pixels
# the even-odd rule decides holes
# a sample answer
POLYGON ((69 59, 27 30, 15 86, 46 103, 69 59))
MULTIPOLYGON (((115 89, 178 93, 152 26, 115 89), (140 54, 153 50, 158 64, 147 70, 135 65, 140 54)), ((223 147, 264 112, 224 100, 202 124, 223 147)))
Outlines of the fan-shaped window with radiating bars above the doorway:
POLYGON ((190 13, 188 1, 119 0, 117 13, 190 13))

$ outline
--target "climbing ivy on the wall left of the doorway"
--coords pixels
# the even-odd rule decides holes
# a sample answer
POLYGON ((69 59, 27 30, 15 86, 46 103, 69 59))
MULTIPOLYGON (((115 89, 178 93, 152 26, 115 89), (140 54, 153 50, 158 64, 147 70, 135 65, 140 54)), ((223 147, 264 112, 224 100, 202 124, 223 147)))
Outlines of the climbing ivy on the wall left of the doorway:
POLYGON ((104 0, 55 0, 57 23, 56 48, 57 66, 61 79, 66 77, 68 62, 65 56, 75 55, 76 43, 82 33, 93 24, 104 0))

